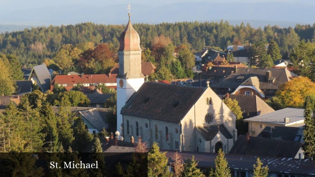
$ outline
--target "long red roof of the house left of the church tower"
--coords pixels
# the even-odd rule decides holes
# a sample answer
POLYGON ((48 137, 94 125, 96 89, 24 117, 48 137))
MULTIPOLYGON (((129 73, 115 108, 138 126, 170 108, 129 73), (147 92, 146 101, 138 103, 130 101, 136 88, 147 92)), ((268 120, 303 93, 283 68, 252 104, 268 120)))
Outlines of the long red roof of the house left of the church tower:
POLYGON ((51 82, 54 84, 116 83, 116 75, 107 74, 57 75, 51 82))

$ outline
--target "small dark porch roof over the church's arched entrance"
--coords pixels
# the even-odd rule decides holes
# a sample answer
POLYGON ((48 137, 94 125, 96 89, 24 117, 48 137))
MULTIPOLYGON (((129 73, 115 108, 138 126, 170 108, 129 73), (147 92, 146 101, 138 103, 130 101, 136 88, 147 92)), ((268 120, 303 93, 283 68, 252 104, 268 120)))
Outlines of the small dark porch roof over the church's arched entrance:
POLYGON ((211 125, 205 127, 196 127, 197 131, 203 136, 204 140, 209 141, 212 140, 219 131, 226 137, 226 139, 232 139, 232 135, 225 128, 223 124, 220 125, 211 125))

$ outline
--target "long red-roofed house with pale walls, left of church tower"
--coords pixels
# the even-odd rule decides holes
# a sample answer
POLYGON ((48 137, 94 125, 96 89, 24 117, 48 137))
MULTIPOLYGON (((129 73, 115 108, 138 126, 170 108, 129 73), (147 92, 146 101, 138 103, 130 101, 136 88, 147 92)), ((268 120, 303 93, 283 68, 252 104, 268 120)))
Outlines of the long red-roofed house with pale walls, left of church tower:
POLYGON ((117 74, 57 75, 51 81, 50 90, 54 89, 54 84, 65 87, 67 91, 72 90, 78 84, 93 88, 98 84, 104 84, 105 86, 116 88, 116 76, 117 74))

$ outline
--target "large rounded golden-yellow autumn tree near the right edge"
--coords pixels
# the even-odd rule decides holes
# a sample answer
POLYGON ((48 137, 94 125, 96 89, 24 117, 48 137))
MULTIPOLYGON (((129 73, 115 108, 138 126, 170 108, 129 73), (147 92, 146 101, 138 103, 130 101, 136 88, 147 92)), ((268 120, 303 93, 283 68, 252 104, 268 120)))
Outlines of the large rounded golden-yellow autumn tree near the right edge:
POLYGON ((295 77, 280 85, 276 96, 286 107, 303 107, 306 96, 315 94, 315 83, 307 77, 295 77))

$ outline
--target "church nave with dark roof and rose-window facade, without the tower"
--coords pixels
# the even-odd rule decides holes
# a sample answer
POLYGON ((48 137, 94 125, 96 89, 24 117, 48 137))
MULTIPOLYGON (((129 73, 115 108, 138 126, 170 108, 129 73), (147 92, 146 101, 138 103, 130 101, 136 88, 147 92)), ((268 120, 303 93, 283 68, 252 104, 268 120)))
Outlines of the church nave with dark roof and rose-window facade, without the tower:
POLYGON ((228 152, 237 139, 236 116, 209 87, 145 82, 120 113, 125 140, 161 149, 228 152))

